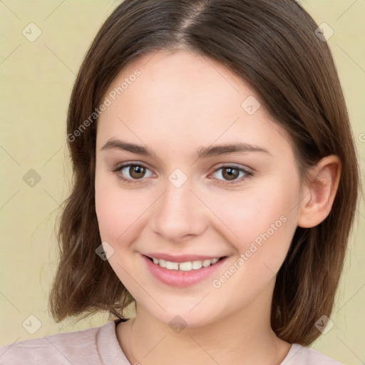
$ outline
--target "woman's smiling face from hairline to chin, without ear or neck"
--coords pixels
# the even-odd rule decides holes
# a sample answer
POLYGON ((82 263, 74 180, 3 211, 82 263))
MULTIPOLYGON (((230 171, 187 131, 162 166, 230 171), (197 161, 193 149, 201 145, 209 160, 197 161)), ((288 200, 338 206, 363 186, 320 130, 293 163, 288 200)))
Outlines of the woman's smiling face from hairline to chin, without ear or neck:
POLYGON ((212 59, 159 51, 123 68, 103 101, 96 214, 138 305, 196 327, 272 291, 301 184, 289 135, 256 93, 212 59), (225 258, 204 266, 215 257, 225 258))

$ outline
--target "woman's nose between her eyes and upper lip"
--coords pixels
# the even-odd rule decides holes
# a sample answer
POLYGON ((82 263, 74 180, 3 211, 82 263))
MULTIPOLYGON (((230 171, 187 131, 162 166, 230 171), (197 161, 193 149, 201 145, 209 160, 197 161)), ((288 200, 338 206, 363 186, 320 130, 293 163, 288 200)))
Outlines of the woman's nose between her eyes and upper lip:
POLYGON ((191 240, 202 235, 208 227, 207 207, 193 192, 189 180, 176 187, 167 180, 151 215, 156 234, 168 242, 191 240))

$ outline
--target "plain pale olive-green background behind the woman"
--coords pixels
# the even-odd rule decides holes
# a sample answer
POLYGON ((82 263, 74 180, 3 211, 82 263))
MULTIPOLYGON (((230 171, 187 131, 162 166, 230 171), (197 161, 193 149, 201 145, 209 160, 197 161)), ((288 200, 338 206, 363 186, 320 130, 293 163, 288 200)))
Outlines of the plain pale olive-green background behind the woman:
MULTIPOLYGON (((56 270, 58 207, 71 178, 68 100, 86 49, 119 2, 0 1, 0 345, 100 326, 108 320, 100 314, 76 325, 56 324, 48 314, 47 295, 56 270), (41 35, 29 41, 36 36, 36 27, 41 35), (37 321, 40 327, 29 333, 37 321)), ((317 24, 327 23, 334 30, 328 42, 364 173, 365 1, 301 2, 317 24)), ((344 364, 365 363, 364 211, 361 200, 331 314, 334 327, 312 346, 344 364)))

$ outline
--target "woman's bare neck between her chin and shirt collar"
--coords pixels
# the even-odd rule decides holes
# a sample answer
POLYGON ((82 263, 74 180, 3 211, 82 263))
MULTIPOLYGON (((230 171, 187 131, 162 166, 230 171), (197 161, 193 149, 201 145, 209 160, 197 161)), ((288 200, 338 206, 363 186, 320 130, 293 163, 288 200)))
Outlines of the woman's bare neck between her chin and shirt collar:
POLYGON ((173 359, 174 365, 279 365, 290 344, 280 340, 270 327, 271 299, 272 290, 261 292, 234 314, 180 331, 155 319, 138 304, 136 317, 129 324, 125 322, 128 329, 123 334, 119 331, 119 341, 131 364, 168 365, 173 359))

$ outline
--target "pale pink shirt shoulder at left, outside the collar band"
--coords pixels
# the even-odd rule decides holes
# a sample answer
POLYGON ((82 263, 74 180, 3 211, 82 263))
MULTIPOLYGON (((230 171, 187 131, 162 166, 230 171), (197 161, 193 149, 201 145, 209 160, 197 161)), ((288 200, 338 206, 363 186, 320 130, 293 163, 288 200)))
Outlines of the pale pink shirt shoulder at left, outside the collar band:
POLYGON ((61 332, 37 339, 27 339, 0 347, 0 364, 101 364, 98 335, 115 327, 113 321, 101 327, 61 332))

